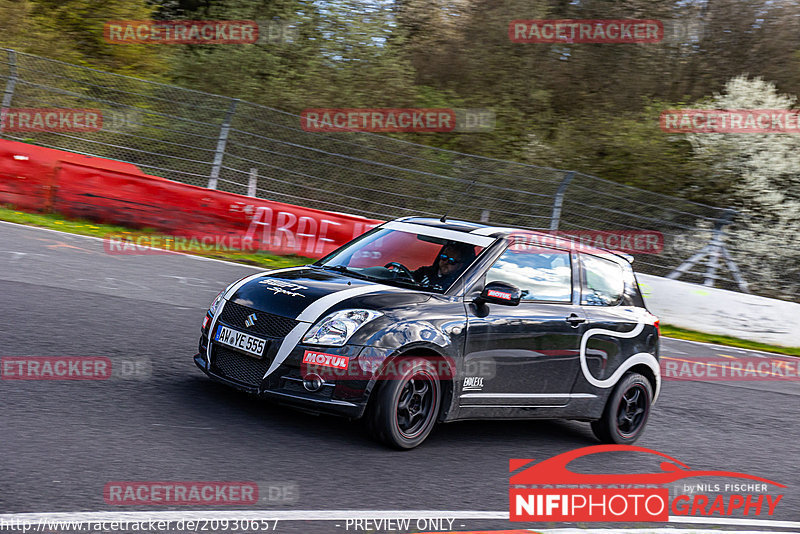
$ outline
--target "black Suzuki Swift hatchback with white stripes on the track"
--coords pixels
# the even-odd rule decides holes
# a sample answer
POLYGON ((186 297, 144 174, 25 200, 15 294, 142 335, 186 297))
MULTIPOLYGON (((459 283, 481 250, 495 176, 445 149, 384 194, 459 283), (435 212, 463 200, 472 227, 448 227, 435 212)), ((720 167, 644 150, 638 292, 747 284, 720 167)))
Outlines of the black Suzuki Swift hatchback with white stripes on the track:
POLYGON ((658 320, 630 262, 552 236, 387 222, 316 263, 243 278, 203 321, 214 380, 364 418, 412 448, 437 422, 590 421, 632 443, 658 397, 658 320))

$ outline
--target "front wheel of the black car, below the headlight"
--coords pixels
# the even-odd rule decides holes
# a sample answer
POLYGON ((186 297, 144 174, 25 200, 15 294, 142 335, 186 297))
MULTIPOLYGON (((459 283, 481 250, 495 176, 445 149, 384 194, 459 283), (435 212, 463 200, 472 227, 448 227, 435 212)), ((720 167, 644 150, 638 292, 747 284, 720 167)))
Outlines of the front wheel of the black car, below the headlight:
POLYGON ((442 388, 435 367, 423 358, 402 360, 397 368, 396 378, 378 385, 367 425, 376 440, 397 449, 413 449, 436 425, 442 388))

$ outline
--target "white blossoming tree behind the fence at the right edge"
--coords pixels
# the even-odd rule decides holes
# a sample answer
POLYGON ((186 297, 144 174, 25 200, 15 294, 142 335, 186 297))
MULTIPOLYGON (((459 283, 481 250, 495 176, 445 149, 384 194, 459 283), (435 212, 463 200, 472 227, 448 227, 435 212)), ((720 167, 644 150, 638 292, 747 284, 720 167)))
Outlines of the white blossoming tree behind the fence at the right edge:
MULTIPOLYGON (((760 78, 732 78, 704 108, 795 109, 760 78), (710 105, 709 105, 710 104, 710 105)), ((759 293, 798 300, 800 293, 800 132, 695 133, 695 157, 731 187, 740 215, 727 244, 759 293)))

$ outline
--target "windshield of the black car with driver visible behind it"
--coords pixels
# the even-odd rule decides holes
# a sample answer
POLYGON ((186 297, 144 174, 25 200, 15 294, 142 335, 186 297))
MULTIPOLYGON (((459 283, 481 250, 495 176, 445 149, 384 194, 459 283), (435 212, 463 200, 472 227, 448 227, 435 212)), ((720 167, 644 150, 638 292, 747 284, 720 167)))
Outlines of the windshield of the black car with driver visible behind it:
POLYGON ((356 278, 443 293, 483 249, 449 237, 376 228, 314 265, 356 278))

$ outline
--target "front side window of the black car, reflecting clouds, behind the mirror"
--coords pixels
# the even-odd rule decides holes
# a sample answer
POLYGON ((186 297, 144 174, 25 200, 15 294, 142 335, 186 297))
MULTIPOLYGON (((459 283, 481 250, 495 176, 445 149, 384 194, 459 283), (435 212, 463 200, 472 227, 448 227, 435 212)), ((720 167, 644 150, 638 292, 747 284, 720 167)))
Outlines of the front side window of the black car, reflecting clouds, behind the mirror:
POLYGON ((486 283, 508 282, 522 290, 523 301, 572 301, 572 266, 566 251, 539 246, 510 246, 486 272, 486 283))

